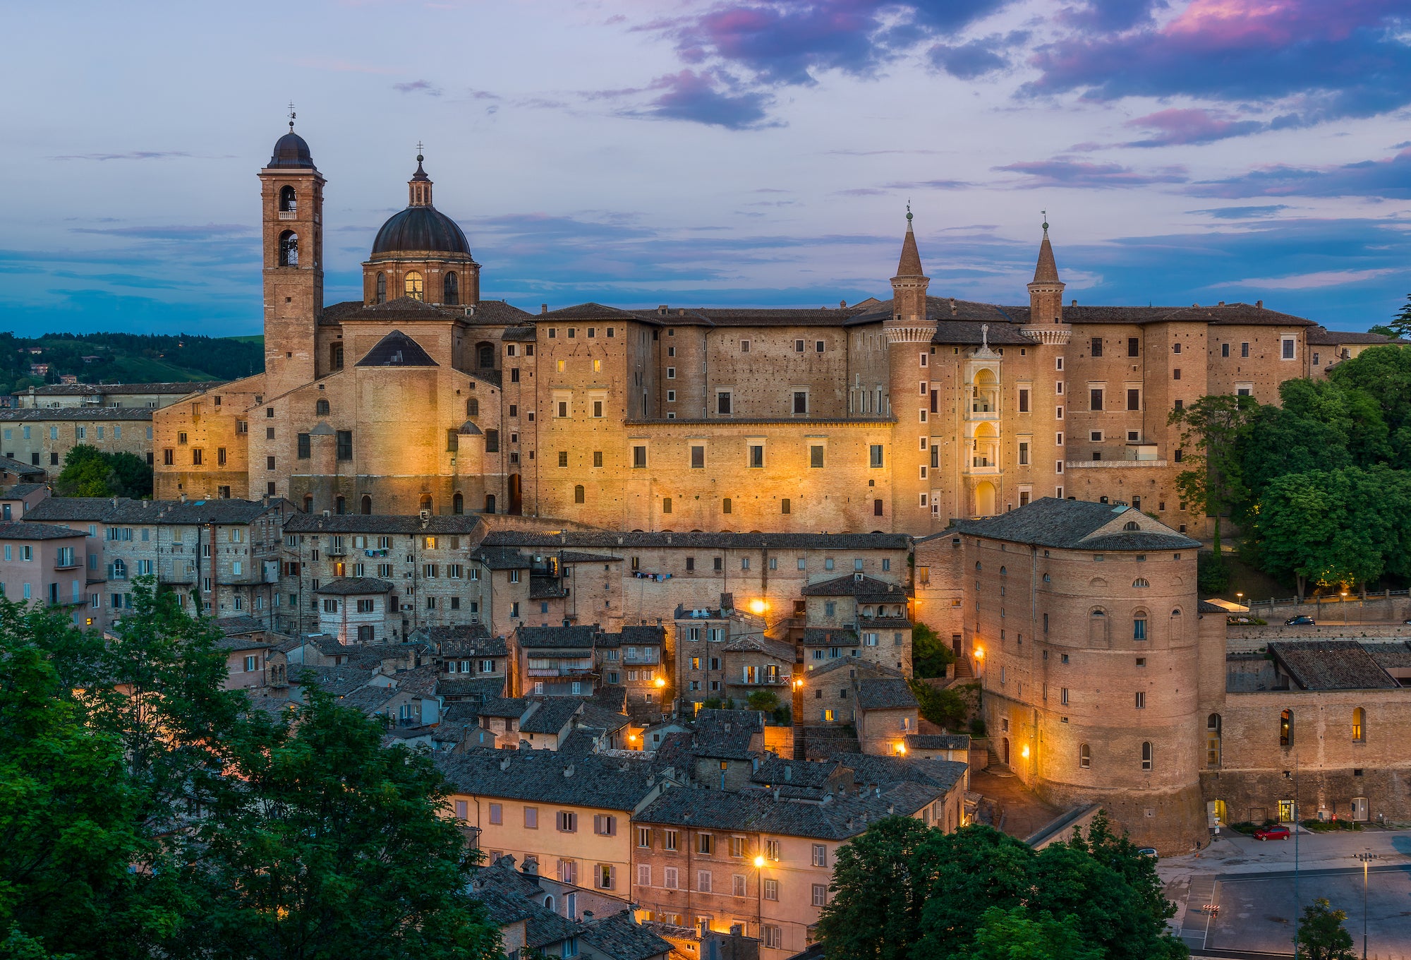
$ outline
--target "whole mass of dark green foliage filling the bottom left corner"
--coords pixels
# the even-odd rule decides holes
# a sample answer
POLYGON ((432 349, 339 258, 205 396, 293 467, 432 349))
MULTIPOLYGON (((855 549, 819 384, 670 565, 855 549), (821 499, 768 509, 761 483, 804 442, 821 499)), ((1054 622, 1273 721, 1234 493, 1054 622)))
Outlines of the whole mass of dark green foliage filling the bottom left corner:
POLYGON ((109 641, 0 600, 0 956, 495 956, 430 758, 323 693, 253 709, 135 593, 109 641))

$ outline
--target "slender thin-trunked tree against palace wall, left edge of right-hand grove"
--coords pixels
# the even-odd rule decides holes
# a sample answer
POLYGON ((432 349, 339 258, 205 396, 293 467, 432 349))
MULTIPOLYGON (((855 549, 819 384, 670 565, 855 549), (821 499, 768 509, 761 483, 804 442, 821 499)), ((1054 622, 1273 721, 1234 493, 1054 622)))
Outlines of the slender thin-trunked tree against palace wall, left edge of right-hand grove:
POLYGON ((1240 432, 1259 404, 1253 397, 1218 394, 1171 411, 1181 426, 1182 462, 1175 486, 1194 510, 1215 518, 1215 556, 1221 558, 1221 517, 1246 498, 1240 474, 1240 432))

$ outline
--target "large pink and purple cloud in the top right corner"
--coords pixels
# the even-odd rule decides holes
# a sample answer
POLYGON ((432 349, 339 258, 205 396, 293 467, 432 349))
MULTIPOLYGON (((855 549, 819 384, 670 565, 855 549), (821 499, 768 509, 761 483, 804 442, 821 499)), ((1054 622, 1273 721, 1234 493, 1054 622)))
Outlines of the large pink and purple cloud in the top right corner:
POLYGON ((1023 93, 1277 104, 1274 127, 1376 116, 1411 103, 1404 17, 1401 0, 1192 0, 1130 30, 1098 16, 1037 51, 1040 76, 1023 93))

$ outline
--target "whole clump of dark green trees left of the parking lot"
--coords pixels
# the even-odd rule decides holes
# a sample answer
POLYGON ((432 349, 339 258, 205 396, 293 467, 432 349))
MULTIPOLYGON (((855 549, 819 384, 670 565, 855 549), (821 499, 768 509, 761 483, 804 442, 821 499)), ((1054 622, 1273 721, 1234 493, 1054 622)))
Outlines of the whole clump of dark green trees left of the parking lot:
POLYGON ((1101 813, 1041 851, 983 824, 886 817, 838 850, 832 885, 818 933, 837 960, 1187 956, 1151 858, 1101 813))

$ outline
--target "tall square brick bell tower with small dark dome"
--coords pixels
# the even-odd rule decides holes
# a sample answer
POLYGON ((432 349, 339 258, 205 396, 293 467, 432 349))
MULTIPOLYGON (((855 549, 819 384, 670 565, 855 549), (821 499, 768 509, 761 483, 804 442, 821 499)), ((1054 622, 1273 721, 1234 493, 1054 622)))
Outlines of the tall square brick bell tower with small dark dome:
POLYGON ((315 378, 315 329, 323 313, 323 175, 293 131, 260 171, 264 220, 265 395, 315 378))

